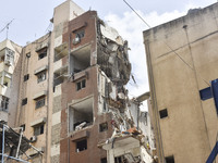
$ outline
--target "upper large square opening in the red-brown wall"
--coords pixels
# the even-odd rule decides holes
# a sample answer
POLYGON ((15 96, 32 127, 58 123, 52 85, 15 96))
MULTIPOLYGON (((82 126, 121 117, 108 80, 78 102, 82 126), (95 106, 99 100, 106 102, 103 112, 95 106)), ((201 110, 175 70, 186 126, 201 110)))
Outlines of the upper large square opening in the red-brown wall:
POLYGON ((90 66, 90 46, 85 46, 70 55, 70 72, 75 74, 90 66))

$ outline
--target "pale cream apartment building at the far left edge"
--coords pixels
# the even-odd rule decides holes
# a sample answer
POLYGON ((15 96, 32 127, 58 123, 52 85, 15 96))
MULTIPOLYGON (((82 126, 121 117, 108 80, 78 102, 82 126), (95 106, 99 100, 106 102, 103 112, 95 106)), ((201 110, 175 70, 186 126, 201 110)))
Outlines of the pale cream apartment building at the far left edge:
POLYGON ((19 63, 22 47, 13 41, 5 39, 0 42, 0 120, 8 122, 9 101, 13 101, 16 105, 16 100, 11 99, 14 93, 17 93, 17 82, 20 79, 19 63), (13 78, 13 80, 12 80, 13 78))

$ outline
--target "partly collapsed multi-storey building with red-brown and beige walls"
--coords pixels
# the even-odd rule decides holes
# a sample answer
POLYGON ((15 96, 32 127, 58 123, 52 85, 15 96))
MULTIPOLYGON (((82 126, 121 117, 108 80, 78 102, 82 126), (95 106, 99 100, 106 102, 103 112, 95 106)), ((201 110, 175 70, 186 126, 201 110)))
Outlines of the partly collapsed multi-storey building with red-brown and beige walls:
POLYGON ((9 102, 9 126, 38 149, 27 150, 32 162, 153 162, 148 114, 125 88, 128 41, 70 0, 50 21, 52 32, 20 49, 9 102))

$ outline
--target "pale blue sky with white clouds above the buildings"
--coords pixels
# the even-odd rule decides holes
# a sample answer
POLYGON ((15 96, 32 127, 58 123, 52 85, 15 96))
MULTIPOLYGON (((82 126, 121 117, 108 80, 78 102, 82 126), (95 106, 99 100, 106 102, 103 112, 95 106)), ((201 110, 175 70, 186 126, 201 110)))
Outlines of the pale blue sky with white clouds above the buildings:
MULTIPOLYGON (((217 0, 125 0, 131 7, 154 27, 178 18, 190 9, 210 5, 217 0)), ((7 38, 5 25, 11 22, 8 38, 17 45, 25 46, 27 41, 47 34, 53 8, 64 0, 0 0, 0 41, 7 38)), ((129 96, 137 97, 149 91, 143 30, 146 24, 126 5, 124 0, 74 0, 85 11, 96 10, 101 20, 114 27, 129 41, 130 62, 132 63, 132 79, 128 84, 129 96)), ((146 104, 144 104, 145 106, 146 104)))

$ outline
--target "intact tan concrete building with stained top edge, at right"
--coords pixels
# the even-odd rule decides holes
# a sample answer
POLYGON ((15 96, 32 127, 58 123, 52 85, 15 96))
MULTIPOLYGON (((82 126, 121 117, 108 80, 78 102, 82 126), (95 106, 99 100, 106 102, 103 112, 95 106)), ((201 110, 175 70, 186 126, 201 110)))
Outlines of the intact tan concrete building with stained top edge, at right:
POLYGON ((144 32, 160 163, 204 163, 217 143, 217 11, 193 9, 144 32))

